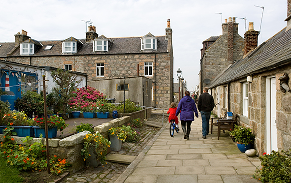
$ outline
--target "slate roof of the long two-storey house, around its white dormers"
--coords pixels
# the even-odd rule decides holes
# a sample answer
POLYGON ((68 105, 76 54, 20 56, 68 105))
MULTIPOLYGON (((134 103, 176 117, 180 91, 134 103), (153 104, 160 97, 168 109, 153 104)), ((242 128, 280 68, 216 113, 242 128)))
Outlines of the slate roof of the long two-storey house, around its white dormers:
MULTIPOLYGON (((140 50, 141 37, 118 37, 108 38, 113 44, 108 52, 93 52, 93 42, 85 42, 86 39, 77 39, 83 45, 77 50, 77 53, 71 55, 104 55, 104 54, 139 54, 139 53, 167 53, 168 41, 165 36, 156 36, 159 38, 157 50, 140 50)), ((70 37, 73 38, 73 37, 70 37)), ((68 39, 70 39, 68 38, 68 39)), ((62 53, 62 42, 65 40, 39 41, 43 46, 40 47, 33 55, 21 56, 20 47, 18 46, 9 57, 39 57, 39 56, 60 56, 68 55, 62 53), (47 45, 54 45, 51 50, 44 50, 47 45)), ((6 57, 14 48, 15 43, 0 43, 0 57, 6 57)))

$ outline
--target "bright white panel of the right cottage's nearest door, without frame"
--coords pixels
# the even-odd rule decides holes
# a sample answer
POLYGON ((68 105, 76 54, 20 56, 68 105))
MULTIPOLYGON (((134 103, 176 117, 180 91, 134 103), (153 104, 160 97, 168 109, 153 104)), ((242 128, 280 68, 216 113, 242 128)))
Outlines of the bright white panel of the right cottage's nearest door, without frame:
POLYGON ((276 78, 271 78, 271 150, 278 151, 276 126, 276 78))

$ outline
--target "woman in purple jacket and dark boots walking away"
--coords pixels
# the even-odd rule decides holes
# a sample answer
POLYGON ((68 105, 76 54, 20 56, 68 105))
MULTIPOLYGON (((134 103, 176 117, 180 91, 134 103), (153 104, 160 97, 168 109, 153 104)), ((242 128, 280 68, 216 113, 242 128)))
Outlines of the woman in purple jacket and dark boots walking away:
POLYGON ((190 96, 189 91, 185 91, 185 96, 180 100, 177 111, 176 111, 176 116, 180 114, 180 121, 182 124, 182 129, 184 132, 184 139, 187 138, 189 140, 189 134, 191 131, 191 123, 194 121, 194 113, 196 118, 198 118, 198 112, 197 108, 195 105, 194 100, 190 96), (186 131, 186 124, 187 124, 187 131, 186 131))

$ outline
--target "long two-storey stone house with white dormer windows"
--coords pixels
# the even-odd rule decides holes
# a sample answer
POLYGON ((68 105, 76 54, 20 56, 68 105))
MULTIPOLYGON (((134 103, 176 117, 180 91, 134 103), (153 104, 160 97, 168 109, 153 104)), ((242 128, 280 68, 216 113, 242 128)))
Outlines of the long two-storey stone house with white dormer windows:
MULTIPOLYGON (((84 72, 88 80, 145 76, 153 81, 152 106, 167 109, 173 101, 169 19, 164 36, 148 33, 141 37, 107 38, 90 26, 84 39, 37 41, 22 30, 15 34, 14 43, 0 43, 0 59, 84 72)), ((129 90, 134 88, 129 86, 129 90)))

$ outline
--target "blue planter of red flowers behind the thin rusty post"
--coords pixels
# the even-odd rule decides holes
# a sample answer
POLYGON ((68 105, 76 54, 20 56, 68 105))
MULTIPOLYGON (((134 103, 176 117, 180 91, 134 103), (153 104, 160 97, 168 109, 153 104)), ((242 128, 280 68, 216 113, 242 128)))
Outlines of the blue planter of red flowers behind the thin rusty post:
MULTIPOLYGON (((35 117, 33 118, 33 125, 35 137, 39 137, 40 134, 45 137, 45 119, 35 117)), ((47 119, 47 125, 48 137, 54 138, 57 136, 57 131, 63 131, 68 124, 65 124, 65 120, 62 117, 54 115, 47 119)))

